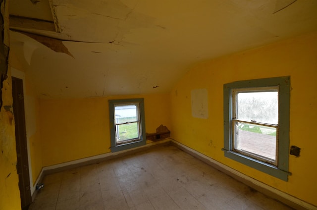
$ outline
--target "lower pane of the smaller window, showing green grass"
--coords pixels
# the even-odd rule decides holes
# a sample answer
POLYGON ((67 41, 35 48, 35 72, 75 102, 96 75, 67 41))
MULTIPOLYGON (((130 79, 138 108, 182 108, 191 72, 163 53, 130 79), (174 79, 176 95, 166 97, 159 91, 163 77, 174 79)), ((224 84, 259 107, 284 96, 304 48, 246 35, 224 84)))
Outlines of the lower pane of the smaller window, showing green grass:
POLYGON ((127 141, 130 139, 138 139, 139 138, 139 128, 138 123, 127 123, 116 125, 116 140, 117 143, 122 141, 127 141))

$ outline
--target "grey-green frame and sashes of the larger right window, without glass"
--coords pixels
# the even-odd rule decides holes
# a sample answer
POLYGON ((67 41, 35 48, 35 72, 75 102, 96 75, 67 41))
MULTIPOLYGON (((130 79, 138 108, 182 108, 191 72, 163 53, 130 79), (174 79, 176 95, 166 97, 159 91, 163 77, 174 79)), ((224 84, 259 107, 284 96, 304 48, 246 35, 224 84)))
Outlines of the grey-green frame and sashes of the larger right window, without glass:
POLYGON ((274 77, 236 81, 223 85, 223 117, 224 117, 224 156, 253 167, 271 176, 288 181, 289 170, 289 113, 290 113, 290 77, 274 77), (235 148, 235 123, 260 125, 256 121, 244 122, 236 119, 236 98, 239 91, 261 92, 278 90, 278 124, 264 124, 276 128, 276 159, 266 161, 265 158, 238 151, 235 148))

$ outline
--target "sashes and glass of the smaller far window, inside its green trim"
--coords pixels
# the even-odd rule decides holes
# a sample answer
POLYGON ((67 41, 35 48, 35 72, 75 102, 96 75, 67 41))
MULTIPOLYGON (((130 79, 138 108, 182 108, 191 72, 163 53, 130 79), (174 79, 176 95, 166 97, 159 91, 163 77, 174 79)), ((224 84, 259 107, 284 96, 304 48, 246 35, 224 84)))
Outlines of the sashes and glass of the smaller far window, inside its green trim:
POLYGON ((116 145, 140 141, 139 107, 139 103, 114 105, 116 145))

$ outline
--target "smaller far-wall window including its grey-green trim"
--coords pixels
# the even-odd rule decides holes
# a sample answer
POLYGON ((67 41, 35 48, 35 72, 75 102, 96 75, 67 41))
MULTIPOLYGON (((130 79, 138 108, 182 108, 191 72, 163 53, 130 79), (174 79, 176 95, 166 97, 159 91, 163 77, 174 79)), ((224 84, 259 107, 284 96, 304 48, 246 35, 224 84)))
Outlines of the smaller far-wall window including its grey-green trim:
POLYGON ((109 100, 111 152, 146 144, 144 100, 109 100))

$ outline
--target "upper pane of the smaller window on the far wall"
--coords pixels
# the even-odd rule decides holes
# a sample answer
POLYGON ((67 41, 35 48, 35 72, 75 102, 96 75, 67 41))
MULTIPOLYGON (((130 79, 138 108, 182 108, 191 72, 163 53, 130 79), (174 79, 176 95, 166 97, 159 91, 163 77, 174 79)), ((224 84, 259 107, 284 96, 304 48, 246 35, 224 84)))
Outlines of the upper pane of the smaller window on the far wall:
POLYGON ((137 105, 124 105, 114 107, 115 123, 137 121, 137 105))

